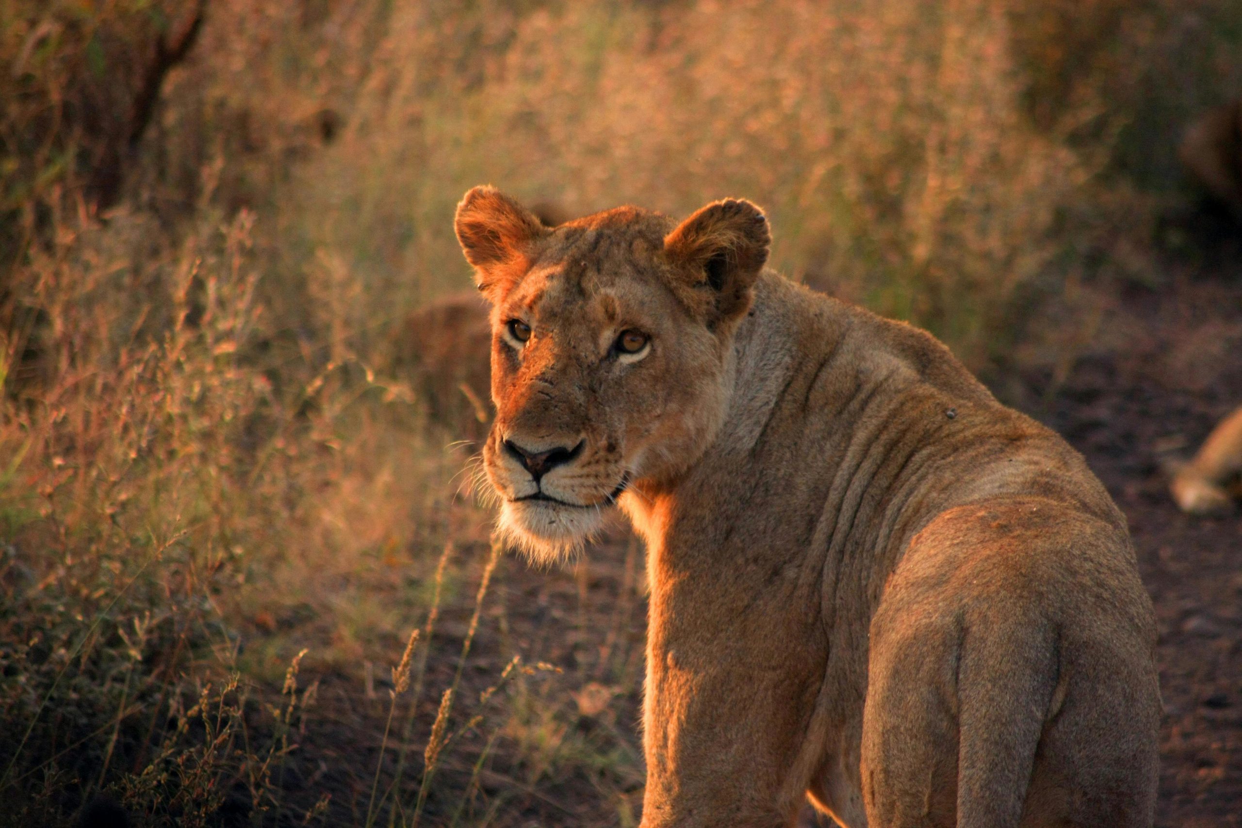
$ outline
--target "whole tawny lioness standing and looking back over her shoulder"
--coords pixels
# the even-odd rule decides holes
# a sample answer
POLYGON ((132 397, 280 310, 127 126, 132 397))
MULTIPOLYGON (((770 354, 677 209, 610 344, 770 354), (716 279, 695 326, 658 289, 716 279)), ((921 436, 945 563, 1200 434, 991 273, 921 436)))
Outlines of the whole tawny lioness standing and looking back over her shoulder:
POLYGON ((1149 826, 1160 694, 1125 519, 929 334, 765 269, 746 201, 555 230, 457 207, 484 447, 539 560, 648 550, 642 826, 1149 826))

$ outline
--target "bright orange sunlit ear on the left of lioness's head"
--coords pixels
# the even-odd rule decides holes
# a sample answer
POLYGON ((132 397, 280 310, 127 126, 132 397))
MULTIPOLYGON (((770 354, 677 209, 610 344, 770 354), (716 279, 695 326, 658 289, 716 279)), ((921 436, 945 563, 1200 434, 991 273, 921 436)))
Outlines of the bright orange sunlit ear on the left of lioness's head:
POLYGON ((533 212, 489 186, 466 194, 457 205, 453 230, 484 292, 501 271, 524 262, 532 243, 550 232, 533 212))

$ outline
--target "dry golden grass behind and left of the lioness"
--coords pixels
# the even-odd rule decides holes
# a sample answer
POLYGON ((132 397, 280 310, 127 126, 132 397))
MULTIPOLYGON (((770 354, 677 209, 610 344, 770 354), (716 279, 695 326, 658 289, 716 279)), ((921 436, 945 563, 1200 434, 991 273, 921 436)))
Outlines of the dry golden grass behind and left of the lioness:
POLYGON ((1017 345, 1072 358, 1028 324, 1089 307, 1063 292, 1155 278, 1135 251, 1179 124, 1242 83, 1240 21, 0 4, 0 822, 635 824, 637 551, 549 575, 576 603, 524 592, 394 359, 467 282, 461 192, 745 195, 777 267, 1001 379, 1017 345))

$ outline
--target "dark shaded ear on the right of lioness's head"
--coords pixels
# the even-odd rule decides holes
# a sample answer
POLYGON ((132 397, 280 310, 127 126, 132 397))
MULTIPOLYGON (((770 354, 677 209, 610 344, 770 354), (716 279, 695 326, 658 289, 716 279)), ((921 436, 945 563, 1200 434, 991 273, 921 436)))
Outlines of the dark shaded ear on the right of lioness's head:
POLYGON ((664 237, 664 254, 705 305, 708 323, 741 315, 768 262, 771 233, 764 211, 743 199, 700 209, 664 237), (704 297, 704 298, 705 298, 704 297))

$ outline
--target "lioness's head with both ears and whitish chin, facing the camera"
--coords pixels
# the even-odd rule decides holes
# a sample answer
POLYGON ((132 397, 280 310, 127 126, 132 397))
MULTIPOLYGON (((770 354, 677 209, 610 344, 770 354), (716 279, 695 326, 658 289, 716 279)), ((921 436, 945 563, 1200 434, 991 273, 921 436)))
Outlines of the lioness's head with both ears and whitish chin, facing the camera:
POLYGON ((476 187, 457 236, 492 303, 497 416, 483 463, 501 526, 551 560, 620 498, 674 479, 715 436, 766 220, 724 201, 676 228, 619 209, 550 230, 476 187))

